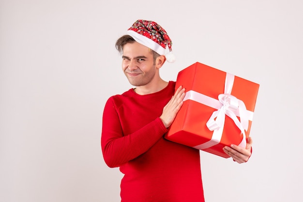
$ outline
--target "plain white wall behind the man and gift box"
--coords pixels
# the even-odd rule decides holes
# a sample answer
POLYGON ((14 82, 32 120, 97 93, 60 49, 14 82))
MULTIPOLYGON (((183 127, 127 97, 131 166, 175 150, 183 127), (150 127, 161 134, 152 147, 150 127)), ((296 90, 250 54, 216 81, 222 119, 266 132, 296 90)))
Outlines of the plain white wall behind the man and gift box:
POLYGON ((137 19, 173 41, 165 80, 198 61, 260 84, 251 159, 201 152, 206 202, 302 201, 302 2, 0 0, 0 201, 120 201, 102 113, 131 87, 114 44, 137 19))

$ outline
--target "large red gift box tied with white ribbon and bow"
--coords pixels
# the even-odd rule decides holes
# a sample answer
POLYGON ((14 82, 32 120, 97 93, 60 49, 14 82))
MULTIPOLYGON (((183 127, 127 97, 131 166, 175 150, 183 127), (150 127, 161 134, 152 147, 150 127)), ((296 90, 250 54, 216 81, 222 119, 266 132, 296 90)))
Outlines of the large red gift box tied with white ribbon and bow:
POLYGON ((223 147, 243 148, 249 136, 259 85, 199 62, 179 72, 183 105, 165 138, 228 158, 223 147))

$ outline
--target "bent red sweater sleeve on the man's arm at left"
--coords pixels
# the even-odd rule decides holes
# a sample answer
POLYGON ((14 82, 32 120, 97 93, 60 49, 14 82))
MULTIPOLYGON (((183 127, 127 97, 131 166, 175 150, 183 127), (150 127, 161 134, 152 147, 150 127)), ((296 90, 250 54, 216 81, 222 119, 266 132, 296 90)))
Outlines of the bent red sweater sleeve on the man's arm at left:
POLYGON ((103 112, 101 147, 107 166, 119 167, 152 147, 167 128, 159 117, 136 132, 123 136, 117 106, 108 99, 103 112))

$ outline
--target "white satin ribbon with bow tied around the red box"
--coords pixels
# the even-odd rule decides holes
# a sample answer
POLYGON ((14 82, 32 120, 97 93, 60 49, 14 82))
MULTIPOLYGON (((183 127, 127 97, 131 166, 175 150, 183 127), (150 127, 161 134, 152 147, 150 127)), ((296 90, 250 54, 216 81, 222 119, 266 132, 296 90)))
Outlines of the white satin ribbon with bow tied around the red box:
POLYGON ((202 150, 220 143, 225 123, 225 115, 229 116, 234 121, 236 126, 241 130, 243 138, 239 146, 245 148, 245 130, 248 129, 249 120, 253 120, 254 113, 246 109, 243 101, 237 99, 235 96, 230 95, 234 78, 234 75, 230 73, 226 74, 224 94, 218 95, 218 100, 193 90, 186 92, 183 101, 197 101, 201 104, 217 109, 217 111, 212 113, 210 119, 206 123, 208 129, 213 131, 212 139, 206 143, 194 146, 194 148, 202 150), (237 116, 240 117, 240 121, 237 116))

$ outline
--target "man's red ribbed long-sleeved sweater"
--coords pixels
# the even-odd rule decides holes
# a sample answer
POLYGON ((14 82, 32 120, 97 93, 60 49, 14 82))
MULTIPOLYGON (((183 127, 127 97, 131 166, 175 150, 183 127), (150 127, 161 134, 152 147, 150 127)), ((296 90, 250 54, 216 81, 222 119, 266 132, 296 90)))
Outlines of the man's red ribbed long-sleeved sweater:
POLYGON ((159 116, 175 91, 108 99, 101 146, 106 164, 120 167, 121 202, 204 202, 199 150, 170 142, 159 116))

